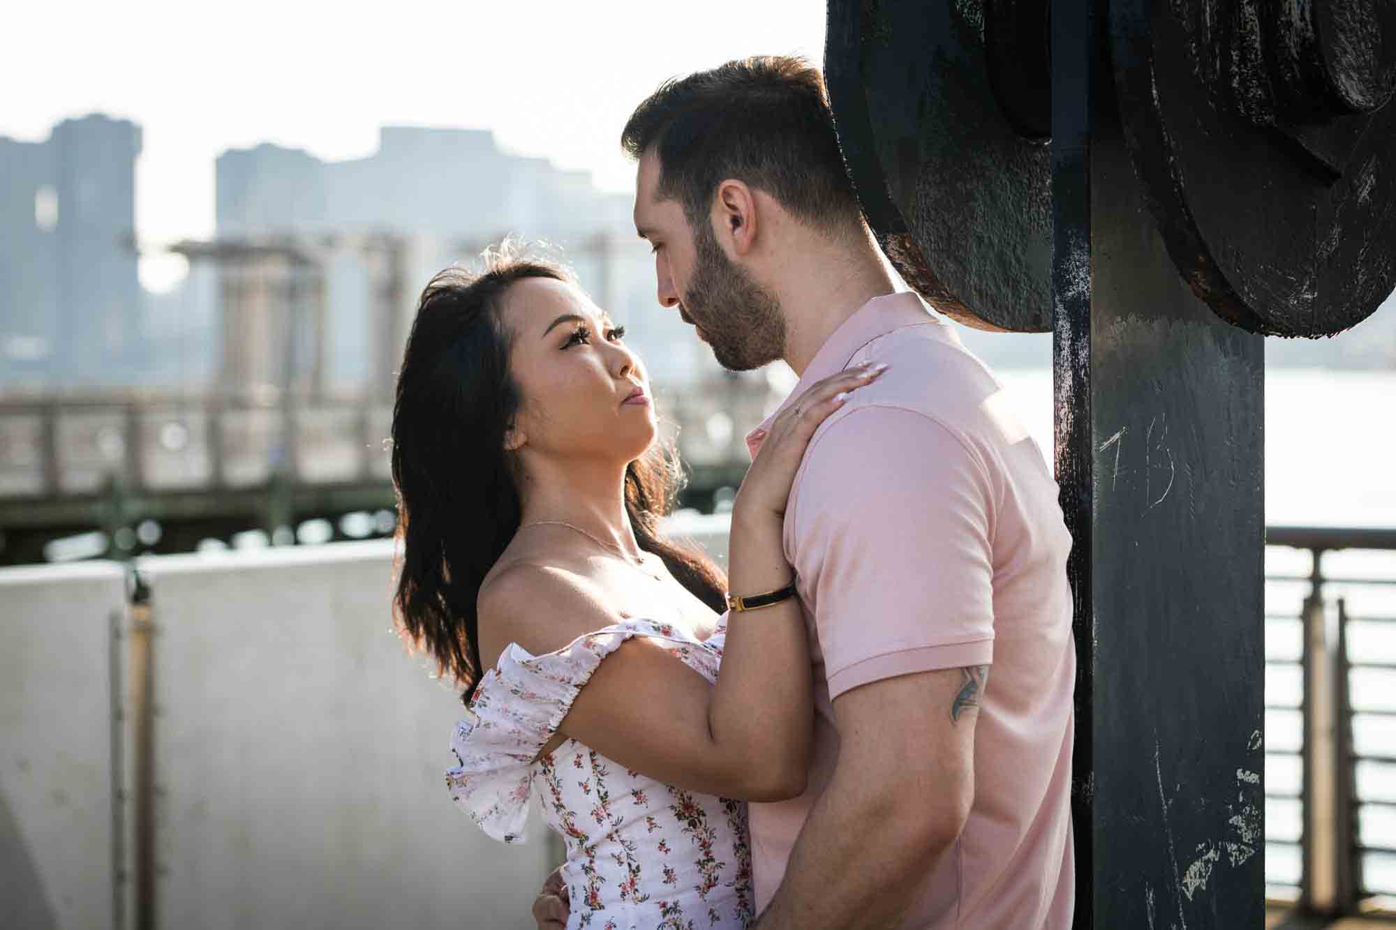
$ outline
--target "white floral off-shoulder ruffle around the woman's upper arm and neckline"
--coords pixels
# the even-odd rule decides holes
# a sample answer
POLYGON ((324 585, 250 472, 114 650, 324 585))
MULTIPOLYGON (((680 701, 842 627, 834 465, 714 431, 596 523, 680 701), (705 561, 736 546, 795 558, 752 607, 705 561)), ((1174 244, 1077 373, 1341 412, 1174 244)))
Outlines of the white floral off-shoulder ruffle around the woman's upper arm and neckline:
POLYGON ((533 760, 602 659, 637 635, 670 642, 670 652, 709 681, 716 680, 720 641, 712 648, 649 620, 625 620, 543 655, 510 644, 496 667, 486 672, 468 716, 451 737, 459 764, 445 774, 451 797, 480 829, 501 842, 524 842, 533 760))

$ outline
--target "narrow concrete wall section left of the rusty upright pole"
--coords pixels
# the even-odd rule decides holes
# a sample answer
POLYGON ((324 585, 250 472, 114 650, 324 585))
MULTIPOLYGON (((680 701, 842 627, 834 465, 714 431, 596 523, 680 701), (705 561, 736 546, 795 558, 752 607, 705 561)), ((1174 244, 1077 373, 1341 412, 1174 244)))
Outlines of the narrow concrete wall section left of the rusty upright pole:
POLYGON ((112 926, 112 563, 0 570, 0 927, 112 926))

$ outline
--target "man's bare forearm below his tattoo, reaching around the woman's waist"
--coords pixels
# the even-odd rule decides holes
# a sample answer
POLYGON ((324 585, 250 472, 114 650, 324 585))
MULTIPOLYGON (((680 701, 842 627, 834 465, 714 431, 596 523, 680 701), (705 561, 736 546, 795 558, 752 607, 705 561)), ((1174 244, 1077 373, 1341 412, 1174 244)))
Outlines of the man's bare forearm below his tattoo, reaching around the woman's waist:
POLYGON ((955 842, 850 781, 835 772, 815 802, 757 930, 898 927, 931 864, 955 842))

